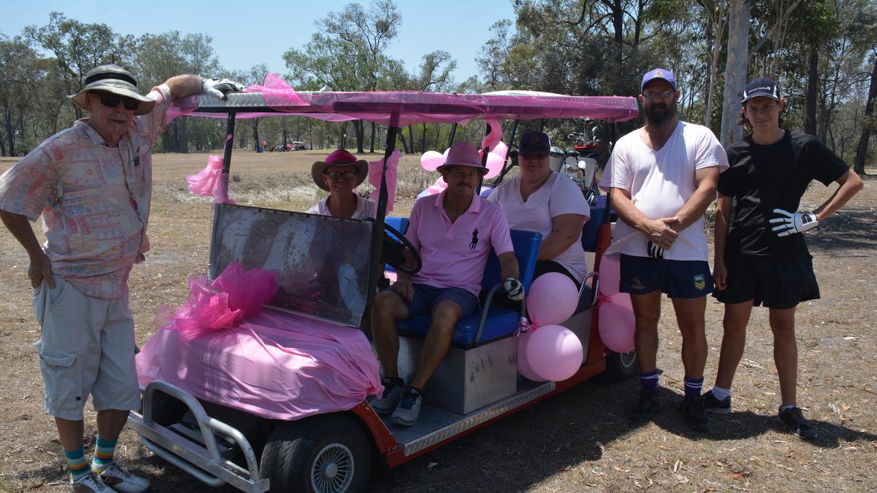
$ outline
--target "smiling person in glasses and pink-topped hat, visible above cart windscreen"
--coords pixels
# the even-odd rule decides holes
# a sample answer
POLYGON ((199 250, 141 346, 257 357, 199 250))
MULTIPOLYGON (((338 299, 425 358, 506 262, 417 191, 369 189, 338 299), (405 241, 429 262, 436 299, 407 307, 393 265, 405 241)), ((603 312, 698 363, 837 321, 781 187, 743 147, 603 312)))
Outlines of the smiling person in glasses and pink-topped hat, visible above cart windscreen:
POLYGON ((317 187, 329 192, 329 196, 308 209, 309 214, 334 218, 374 218, 374 202, 354 193, 354 189, 368 175, 368 162, 339 149, 317 161, 310 167, 310 176, 317 187))

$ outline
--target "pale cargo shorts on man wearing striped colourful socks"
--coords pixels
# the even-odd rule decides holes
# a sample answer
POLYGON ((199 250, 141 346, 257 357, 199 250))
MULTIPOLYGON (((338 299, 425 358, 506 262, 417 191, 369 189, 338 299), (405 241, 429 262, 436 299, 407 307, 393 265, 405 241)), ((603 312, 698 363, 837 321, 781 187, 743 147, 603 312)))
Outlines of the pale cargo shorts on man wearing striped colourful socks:
POLYGON ((41 339, 43 397, 48 414, 81 420, 89 395, 96 411, 135 410, 140 405, 134 366, 134 320, 128 293, 118 299, 83 295, 60 275, 33 290, 41 339))

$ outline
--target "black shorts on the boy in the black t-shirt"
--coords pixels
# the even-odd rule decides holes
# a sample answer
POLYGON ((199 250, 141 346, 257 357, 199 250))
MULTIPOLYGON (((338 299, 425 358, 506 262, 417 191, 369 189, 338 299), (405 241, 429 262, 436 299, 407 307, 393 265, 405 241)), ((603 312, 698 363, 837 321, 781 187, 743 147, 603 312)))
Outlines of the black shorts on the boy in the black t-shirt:
POLYGON ((813 257, 768 257, 725 254, 727 287, 713 296, 722 303, 744 303, 786 310, 819 299, 813 257))

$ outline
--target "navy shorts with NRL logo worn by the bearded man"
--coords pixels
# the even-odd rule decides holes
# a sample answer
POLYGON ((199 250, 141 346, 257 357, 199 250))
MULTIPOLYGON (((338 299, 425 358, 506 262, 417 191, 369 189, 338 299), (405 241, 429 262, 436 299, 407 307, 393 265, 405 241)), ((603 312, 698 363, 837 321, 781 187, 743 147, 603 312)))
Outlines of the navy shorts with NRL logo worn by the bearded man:
POLYGON ((709 264, 706 261, 668 261, 621 255, 621 292, 646 295, 657 289, 671 298, 709 295, 713 291, 709 264))

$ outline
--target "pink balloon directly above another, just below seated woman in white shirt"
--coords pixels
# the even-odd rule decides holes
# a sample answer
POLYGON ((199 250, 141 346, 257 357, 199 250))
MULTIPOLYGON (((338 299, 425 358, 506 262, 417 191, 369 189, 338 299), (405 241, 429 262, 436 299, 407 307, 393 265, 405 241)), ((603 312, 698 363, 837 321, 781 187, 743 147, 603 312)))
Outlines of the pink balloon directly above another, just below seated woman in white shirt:
POLYGON ((560 272, 539 275, 527 295, 527 313, 535 325, 560 324, 573 315, 578 304, 575 283, 560 272))

